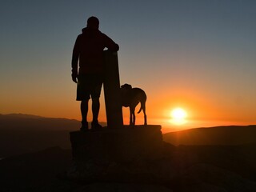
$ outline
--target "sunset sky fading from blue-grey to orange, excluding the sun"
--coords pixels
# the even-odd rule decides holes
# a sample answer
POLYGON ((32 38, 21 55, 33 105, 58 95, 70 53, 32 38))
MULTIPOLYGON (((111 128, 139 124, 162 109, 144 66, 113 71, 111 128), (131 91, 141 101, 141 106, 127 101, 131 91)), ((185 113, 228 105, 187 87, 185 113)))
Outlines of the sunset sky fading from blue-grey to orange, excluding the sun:
POLYGON ((70 61, 94 15, 120 46, 121 84, 146 91, 149 124, 173 128, 176 106, 186 127, 256 123, 255 10, 254 0, 3 0, 0 113, 81 118, 70 61))

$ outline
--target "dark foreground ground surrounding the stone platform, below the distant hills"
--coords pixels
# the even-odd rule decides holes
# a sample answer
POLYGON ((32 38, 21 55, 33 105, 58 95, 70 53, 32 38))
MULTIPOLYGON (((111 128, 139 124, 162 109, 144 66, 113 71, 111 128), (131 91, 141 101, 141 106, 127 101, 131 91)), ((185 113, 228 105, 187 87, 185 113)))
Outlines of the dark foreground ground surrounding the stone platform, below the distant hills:
POLYGON ((71 150, 53 147, 1 160, 0 191, 256 191, 254 149, 166 143, 164 158, 136 166, 136 181, 74 182, 66 178, 71 150), (139 174, 146 169, 149 175, 139 174))

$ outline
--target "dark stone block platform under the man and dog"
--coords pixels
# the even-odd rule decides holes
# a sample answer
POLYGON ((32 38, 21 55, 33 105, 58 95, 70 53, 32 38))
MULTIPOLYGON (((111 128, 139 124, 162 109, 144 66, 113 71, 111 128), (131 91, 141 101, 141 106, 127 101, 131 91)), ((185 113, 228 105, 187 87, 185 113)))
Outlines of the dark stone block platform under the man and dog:
POLYGON ((161 126, 70 133, 73 165, 67 177, 84 181, 155 180, 163 158, 161 126))

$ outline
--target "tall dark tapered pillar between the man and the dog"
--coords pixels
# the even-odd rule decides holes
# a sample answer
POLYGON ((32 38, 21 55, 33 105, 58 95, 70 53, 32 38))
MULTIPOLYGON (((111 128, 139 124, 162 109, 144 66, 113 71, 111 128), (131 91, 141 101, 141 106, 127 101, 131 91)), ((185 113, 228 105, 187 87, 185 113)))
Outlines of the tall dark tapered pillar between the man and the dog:
POLYGON ((120 93, 120 80, 118 71, 118 53, 110 50, 104 51, 105 58, 105 80, 103 82, 106 103, 107 127, 121 128, 122 101, 120 93))

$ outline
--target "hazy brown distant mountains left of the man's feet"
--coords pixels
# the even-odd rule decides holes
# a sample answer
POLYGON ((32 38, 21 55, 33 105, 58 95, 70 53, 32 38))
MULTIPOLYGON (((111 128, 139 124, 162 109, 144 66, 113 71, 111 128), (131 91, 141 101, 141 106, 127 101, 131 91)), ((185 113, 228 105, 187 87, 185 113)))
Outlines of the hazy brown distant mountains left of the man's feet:
MULTIPOLYGON (((106 123, 102 123, 106 126, 106 123)), ((31 153, 51 146, 70 149, 70 131, 81 122, 30 114, 0 114, 0 158, 31 153)))

